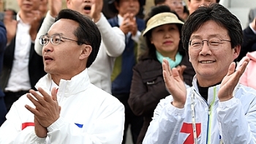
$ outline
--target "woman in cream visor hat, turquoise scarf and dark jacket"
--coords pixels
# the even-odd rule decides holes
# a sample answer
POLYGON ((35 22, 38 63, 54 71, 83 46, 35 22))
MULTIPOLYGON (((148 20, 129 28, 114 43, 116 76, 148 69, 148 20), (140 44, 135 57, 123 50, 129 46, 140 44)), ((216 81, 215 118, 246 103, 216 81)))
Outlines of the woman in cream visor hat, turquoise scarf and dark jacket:
POLYGON ((195 71, 189 62, 187 51, 181 45, 183 24, 176 12, 165 5, 154 7, 149 14, 146 30, 143 32, 148 51, 133 68, 128 100, 133 113, 144 117, 137 144, 142 143, 160 99, 170 95, 162 75, 163 59, 169 61, 170 67, 179 69, 184 83, 192 86, 195 71))

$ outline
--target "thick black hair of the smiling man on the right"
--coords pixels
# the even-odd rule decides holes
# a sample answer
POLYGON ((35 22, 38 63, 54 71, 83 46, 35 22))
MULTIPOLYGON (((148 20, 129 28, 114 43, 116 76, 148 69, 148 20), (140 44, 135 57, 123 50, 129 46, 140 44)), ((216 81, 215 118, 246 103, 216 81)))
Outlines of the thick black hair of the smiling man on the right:
POLYGON ((219 26, 227 29, 227 34, 231 39, 231 47, 235 48, 243 43, 243 31, 241 23, 227 8, 221 4, 210 4, 209 6, 199 7, 189 15, 182 29, 182 44, 185 50, 189 48, 189 39, 193 32, 197 31, 203 23, 213 20, 219 26))

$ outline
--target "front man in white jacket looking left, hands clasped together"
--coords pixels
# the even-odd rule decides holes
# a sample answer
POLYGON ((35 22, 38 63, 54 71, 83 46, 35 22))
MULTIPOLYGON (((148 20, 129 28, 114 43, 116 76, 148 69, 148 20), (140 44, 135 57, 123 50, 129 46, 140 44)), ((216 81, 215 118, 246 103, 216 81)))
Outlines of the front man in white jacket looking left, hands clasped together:
POLYGON ((61 10, 40 37, 47 75, 16 101, 0 128, 0 143, 121 143, 124 105, 92 85, 87 74, 101 35, 89 18, 61 10))

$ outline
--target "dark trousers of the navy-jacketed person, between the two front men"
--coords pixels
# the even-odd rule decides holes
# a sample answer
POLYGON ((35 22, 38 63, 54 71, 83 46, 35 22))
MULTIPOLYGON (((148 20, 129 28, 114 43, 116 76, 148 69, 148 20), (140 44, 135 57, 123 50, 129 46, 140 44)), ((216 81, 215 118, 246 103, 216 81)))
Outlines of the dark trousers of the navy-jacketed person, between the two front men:
POLYGON ((124 121, 124 136, 122 144, 125 144, 127 139, 127 129, 131 126, 132 142, 135 144, 140 134, 140 129, 143 126, 143 117, 137 116, 132 113, 131 108, 128 105, 129 94, 113 94, 124 105, 125 109, 125 121, 124 121))

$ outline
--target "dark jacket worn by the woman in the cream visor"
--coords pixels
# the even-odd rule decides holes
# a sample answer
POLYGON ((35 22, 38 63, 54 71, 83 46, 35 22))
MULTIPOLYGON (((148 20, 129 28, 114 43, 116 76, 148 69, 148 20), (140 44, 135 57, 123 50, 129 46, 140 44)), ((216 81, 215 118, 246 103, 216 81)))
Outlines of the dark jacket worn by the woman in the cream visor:
MULTIPOLYGON (((195 70, 189 62, 188 54, 185 53, 181 61, 182 65, 187 66, 184 70, 184 81, 192 86, 192 78, 195 70)), ((129 106, 135 115, 143 115, 143 127, 140 130, 137 144, 142 143, 143 138, 152 120, 154 109, 160 99, 170 95, 166 90, 165 81, 162 75, 162 64, 154 58, 142 58, 133 68, 132 86, 129 94, 129 106)))

